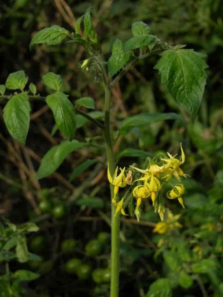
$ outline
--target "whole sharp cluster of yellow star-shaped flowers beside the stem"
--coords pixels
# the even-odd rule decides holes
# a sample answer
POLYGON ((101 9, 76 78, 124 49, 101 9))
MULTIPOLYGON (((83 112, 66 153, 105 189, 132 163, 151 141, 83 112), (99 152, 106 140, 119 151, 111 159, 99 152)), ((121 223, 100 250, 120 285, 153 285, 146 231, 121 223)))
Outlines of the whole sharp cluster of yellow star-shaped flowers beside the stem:
MULTIPOLYGON (((130 166, 130 170, 128 170, 127 174, 125 173, 125 167, 123 169, 120 168, 120 173, 118 174, 117 167, 114 175, 111 176, 108 165, 108 179, 109 182, 114 185, 114 198, 112 199, 112 203, 116 206, 116 214, 121 212, 122 214, 126 215, 124 211, 126 203, 124 202, 128 201, 127 194, 129 195, 129 190, 119 202, 117 202, 117 194, 120 187, 123 188, 127 185, 130 185, 130 195, 136 199, 135 215, 137 220, 139 221, 142 200, 151 198, 155 212, 158 212, 161 220, 163 221, 165 207, 162 197, 162 185, 166 182, 169 182, 172 176, 174 176, 178 181, 180 181, 181 176, 186 177, 186 174, 184 174, 183 170, 180 168, 180 165, 185 162, 185 154, 182 144, 180 144, 180 149, 180 159, 175 158, 176 155, 172 156, 171 154, 167 153, 169 158, 161 158, 159 162, 157 162, 156 159, 150 160, 150 164, 146 169, 130 166), (134 180, 133 177, 136 177, 136 179, 134 180)), ((167 192, 167 198, 178 199, 179 203, 184 208, 182 198, 184 192, 185 189, 183 184, 178 183, 172 185, 172 190, 167 192)))

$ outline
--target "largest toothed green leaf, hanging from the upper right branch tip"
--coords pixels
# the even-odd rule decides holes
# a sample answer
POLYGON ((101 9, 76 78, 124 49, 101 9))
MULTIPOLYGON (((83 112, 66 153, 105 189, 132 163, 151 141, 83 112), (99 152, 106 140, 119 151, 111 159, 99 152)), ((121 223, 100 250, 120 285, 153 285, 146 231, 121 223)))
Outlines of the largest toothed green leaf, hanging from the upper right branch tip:
POLYGON ((154 69, 158 69, 162 83, 194 123, 204 93, 208 65, 202 59, 203 55, 194 50, 165 50, 161 56, 154 69))

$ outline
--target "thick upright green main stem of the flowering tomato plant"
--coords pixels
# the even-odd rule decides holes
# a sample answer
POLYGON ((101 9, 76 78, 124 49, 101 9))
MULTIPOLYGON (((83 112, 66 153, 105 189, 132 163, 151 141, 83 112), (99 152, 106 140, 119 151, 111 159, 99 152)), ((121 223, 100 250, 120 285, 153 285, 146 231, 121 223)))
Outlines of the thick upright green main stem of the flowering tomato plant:
MULTIPOLYGON (((115 157, 112 149, 111 140, 111 130, 110 130, 110 91, 107 84, 105 86, 105 144, 107 159, 109 162, 110 174, 113 175, 115 171, 115 157)), ((111 189, 111 199, 114 196, 114 186, 110 185, 111 189)), ((118 297, 119 290, 119 214, 115 214, 115 206, 112 204, 112 219, 111 219, 111 233, 112 233, 112 243, 111 243, 111 290, 110 297, 118 297)))

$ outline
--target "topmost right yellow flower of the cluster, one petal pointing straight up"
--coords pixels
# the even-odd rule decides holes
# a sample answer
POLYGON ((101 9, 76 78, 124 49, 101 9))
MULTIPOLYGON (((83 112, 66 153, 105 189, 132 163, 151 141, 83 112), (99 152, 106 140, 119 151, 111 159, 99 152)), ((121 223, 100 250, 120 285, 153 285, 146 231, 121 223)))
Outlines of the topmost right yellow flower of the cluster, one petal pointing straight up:
POLYGON ((163 159, 162 161, 166 162, 167 164, 164 165, 164 169, 162 170, 163 173, 166 175, 164 176, 164 179, 167 181, 171 178, 171 176, 175 176, 180 181, 180 176, 186 177, 186 174, 183 173, 183 170, 180 168, 180 165, 182 165, 185 162, 185 154, 182 148, 182 143, 180 143, 180 149, 181 149, 181 157, 180 160, 176 159, 176 155, 172 156, 171 154, 168 154, 169 159, 163 159))

